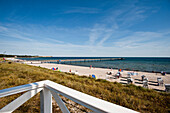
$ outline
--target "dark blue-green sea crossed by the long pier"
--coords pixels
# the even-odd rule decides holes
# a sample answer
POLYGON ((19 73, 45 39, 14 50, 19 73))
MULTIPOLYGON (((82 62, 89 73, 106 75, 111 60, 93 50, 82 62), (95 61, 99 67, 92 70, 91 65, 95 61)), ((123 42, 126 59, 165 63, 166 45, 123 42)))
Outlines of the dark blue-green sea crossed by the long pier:
MULTIPOLYGON (((65 60, 65 59, 100 59, 100 58, 123 58, 123 60, 97 61, 97 62, 60 62, 61 64, 87 66, 100 68, 123 69, 143 72, 170 73, 170 57, 37 57, 19 58, 22 60, 65 60)), ((57 62, 51 62, 57 63, 57 62)))

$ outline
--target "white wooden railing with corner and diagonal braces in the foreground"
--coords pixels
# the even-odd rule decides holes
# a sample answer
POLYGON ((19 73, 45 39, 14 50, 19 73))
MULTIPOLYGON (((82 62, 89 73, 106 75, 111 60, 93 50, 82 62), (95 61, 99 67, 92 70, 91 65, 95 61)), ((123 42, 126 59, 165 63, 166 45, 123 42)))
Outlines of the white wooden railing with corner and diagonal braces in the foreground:
POLYGON ((41 113, 52 113, 52 96, 58 103, 61 111, 63 113, 69 113, 69 110, 65 106, 59 94, 97 113, 136 113, 136 111, 133 111, 131 109, 95 98, 93 96, 81 93, 79 91, 73 90, 49 80, 0 90, 0 98, 25 91, 27 92, 0 109, 0 113, 13 112, 31 97, 36 95, 38 92, 40 92, 41 113))

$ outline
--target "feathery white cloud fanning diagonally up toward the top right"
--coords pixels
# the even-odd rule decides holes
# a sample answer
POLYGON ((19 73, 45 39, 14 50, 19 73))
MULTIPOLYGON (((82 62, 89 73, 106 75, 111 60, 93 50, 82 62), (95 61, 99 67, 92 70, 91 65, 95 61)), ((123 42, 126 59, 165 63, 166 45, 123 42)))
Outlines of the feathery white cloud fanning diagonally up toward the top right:
MULTIPOLYGON (((120 33, 119 35, 122 35, 123 32, 126 33, 129 27, 147 18, 148 15, 146 12, 153 13, 152 10, 155 10, 155 8, 151 8, 148 6, 136 5, 137 3, 138 1, 122 3, 117 9, 111 8, 106 10, 107 15, 103 17, 103 20, 101 20, 101 22, 96 23, 92 28, 89 35, 89 44, 103 46, 105 43, 109 43, 107 42, 107 40, 113 37, 116 38, 116 32, 120 33)), ((133 33, 136 31, 131 32, 133 33)), ((129 34, 126 35, 128 36, 129 34)), ((117 39, 115 40, 115 42, 116 41, 117 39)), ((134 44, 134 46, 135 45, 136 44, 134 44)))

